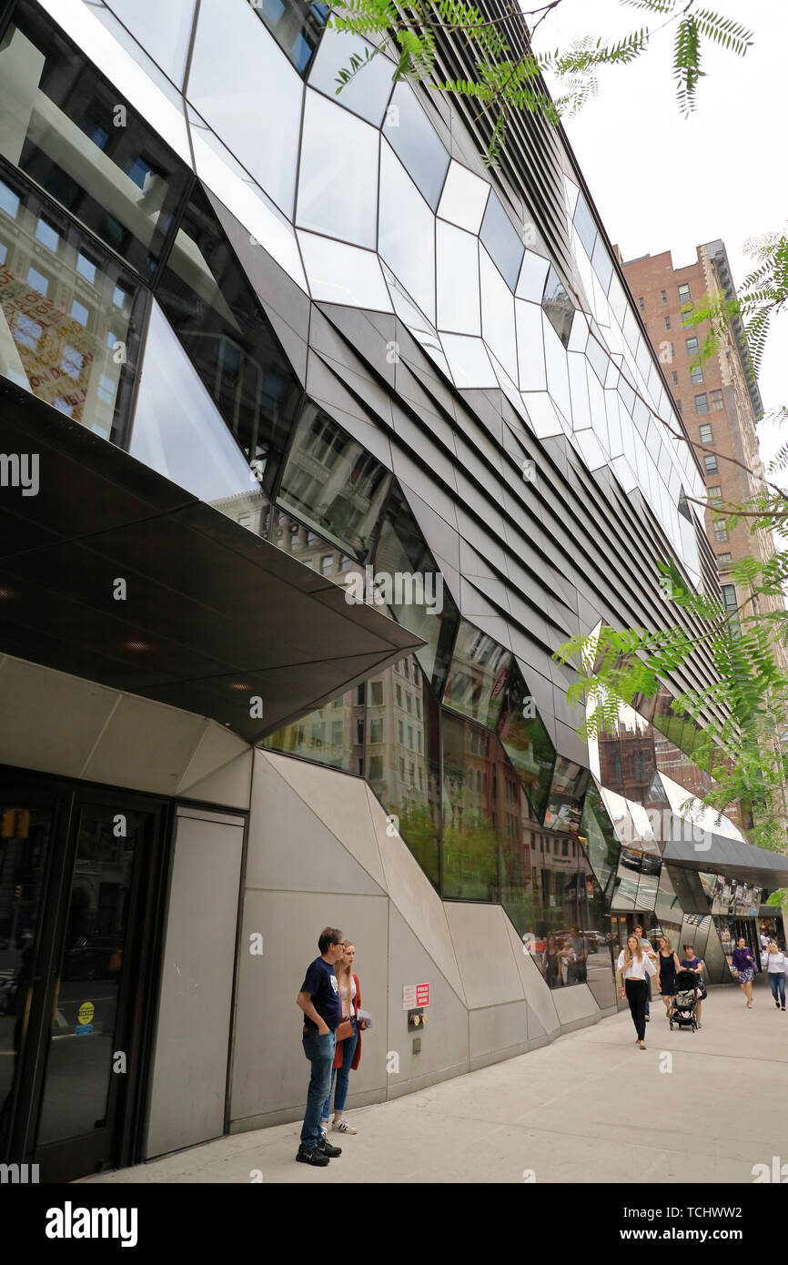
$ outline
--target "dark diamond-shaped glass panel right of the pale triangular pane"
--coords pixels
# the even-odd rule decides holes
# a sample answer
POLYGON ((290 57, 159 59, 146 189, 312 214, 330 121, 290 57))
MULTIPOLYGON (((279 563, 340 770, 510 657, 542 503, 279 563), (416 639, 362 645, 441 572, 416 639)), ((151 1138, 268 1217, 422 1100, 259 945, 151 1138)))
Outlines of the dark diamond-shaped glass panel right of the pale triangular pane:
POLYGON ((301 386, 197 187, 157 297, 219 412, 271 487, 301 386))

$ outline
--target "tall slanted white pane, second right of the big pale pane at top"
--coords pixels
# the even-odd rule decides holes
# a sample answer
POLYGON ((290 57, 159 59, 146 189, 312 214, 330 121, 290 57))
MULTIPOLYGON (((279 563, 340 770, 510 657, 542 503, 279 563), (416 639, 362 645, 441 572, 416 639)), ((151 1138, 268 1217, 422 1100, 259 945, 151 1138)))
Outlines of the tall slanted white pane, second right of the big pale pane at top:
MULTIPOLYGON (((372 216, 374 244, 374 195, 372 216)), ((434 321, 435 216, 387 144, 381 147, 378 252, 422 312, 434 321)))

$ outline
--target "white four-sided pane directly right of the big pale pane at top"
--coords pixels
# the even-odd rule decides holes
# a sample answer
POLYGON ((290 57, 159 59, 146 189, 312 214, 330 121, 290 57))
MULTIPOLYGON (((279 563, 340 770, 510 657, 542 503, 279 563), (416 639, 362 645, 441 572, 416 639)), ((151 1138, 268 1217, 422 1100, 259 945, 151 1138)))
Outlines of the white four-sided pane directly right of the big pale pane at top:
POLYGON ((378 147, 374 128, 307 90, 296 223, 374 247, 378 147))

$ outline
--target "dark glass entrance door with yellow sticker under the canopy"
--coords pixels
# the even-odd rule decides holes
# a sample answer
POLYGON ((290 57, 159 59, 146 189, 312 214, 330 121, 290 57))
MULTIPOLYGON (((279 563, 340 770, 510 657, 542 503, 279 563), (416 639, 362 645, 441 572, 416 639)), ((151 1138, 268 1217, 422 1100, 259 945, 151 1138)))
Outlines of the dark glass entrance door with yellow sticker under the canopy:
POLYGON ((68 1182, 135 1155, 166 806, 51 779, 37 801, 8 772, 3 1157, 68 1182))

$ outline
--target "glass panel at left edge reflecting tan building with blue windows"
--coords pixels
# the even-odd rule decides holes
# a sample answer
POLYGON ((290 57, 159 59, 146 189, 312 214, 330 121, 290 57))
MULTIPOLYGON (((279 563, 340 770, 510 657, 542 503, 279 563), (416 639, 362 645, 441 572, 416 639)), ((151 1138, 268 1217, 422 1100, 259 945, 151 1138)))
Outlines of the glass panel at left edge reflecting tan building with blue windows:
POLYGON ((8 170, 0 247, 0 373, 121 443, 144 306, 134 276, 8 170))

